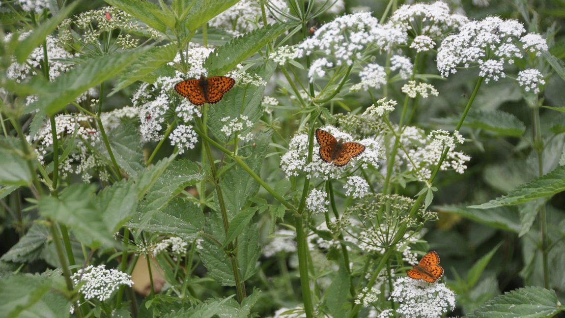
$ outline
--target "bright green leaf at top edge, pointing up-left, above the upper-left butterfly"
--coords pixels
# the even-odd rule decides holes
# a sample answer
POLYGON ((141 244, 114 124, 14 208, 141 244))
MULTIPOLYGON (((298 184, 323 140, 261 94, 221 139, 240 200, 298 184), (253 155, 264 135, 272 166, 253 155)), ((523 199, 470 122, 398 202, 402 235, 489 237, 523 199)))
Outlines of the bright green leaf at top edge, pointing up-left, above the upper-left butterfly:
POLYGON ((167 32, 167 27, 169 29, 174 29, 175 27, 175 17, 169 14, 169 12, 164 12, 160 7, 154 5, 149 1, 138 1, 138 0, 104 0, 108 4, 114 7, 118 7, 124 10, 128 14, 133 15, 137 19, 140 19, 143 23, 149 25, 157 31, 162 33, 167 32))

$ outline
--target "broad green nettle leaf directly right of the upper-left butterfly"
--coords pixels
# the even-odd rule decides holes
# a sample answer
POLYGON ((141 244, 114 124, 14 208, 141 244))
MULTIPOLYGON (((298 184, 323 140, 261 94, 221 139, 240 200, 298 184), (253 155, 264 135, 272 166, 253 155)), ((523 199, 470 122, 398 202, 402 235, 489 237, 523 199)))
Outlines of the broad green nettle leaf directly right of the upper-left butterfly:
MULTIPOLYGON (((276 63, 267 63, 265 65, 254 67, 248 70, 249 73, 255 74, 268 82, 275 72, 276 63)), ((225 136, 221 131, 227 123, 221 121, 224 117, 230 120, 237 119, 241 115, 247 116, 247 120, 256 123, 264 113, 263 92, 265 86, 234 86, 234 88, 224 95, 224 98, 217 104, 211 105, 208 110, 208 127, 214 136, 224 142, 228 142, 229 138, 234 136, 225 136)), ((240 136, 251 132, 252 128, 246 128, 240 132, 240 136)))

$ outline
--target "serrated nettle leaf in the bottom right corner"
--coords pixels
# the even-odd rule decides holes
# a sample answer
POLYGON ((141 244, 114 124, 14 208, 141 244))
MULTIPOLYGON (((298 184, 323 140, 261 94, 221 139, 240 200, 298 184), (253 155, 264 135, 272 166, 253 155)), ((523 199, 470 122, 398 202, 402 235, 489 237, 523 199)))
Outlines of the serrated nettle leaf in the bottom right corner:
POLYGON ((489 300, 468 317, 553 317, 563 310, 555 291, 528 286, 489 300))

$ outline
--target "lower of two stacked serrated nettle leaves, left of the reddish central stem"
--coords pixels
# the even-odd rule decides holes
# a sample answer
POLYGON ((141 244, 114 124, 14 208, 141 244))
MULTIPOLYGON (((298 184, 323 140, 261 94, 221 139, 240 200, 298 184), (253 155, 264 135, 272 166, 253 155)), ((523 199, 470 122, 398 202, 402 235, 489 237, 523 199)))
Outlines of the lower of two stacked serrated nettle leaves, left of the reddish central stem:
POLYGON ((128 227, 153 233, 171 234, 185 241, 192 241, 204 227, 205 217, 202 209, 193 202, 174 198, 149 221, 142 223, 134 219, 128 227))

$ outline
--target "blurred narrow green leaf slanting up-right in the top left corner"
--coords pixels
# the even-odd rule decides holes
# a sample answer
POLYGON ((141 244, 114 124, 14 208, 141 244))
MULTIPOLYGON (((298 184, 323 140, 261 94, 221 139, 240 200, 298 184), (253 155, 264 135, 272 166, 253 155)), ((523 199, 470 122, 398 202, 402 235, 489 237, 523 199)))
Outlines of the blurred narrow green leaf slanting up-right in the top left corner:
POLYGON ((29 54, 45 41, 45 38, 58 27, 60 21, 67 18, 67 15, 71 13, 77 5, 78 2, 72 2, 70 5, 61 8, 53 17, 37 25, 31 34, 21 40, 15 50, 18 63, 24 63, 29 54))

